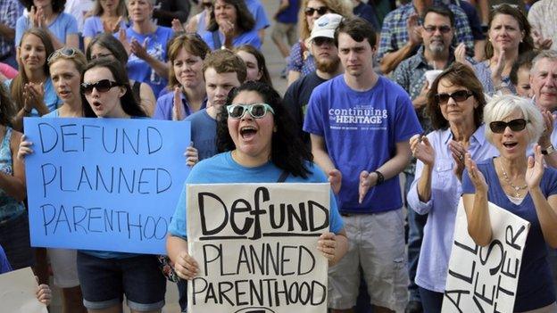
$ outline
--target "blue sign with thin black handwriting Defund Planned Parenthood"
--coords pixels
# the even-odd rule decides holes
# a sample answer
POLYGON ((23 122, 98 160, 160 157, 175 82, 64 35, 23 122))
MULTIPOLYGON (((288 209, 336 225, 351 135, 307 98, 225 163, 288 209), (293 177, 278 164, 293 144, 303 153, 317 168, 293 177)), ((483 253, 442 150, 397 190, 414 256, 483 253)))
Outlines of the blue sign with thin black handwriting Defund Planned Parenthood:
POLYGON ((31 244, 165 254, 187 177, 189 123, 24 120, 31 244))

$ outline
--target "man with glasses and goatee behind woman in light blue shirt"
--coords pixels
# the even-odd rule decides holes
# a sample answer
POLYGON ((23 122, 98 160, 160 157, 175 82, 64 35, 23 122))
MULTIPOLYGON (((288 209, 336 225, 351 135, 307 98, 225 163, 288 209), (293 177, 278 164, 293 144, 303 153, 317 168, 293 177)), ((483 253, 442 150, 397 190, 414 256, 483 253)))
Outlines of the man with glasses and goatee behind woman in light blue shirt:
MULTIPOLYGON (((393 74, 393 79, 404 90, 410 94, 412 104, 420 119, 421 127, 426 132, 430 125, 428 117, 424 112, 427 103, 428 82, 425 73, 428 70, 441 70, 449 67, 454 62, 454 49, 451 47, 454 37, 454 14, 444 6, 431 6, 424 12, 423 27, 420 29, 420 36, 423 38, 423 45, 420 46, 418 53, 409 59, 401 62, 393 74)), ((463 49, 462 45, 459 49, 463 49)), ((462 52, 461 52, 462 53, 462 52)), ((473 62, 472 59, 467 59, 473 62)), ((406 176, 405 192, 414 180, 416 160, 413 159, 410 165, 404 169, 406 176)), ((408 208, 408 203, 406 203, 408 208)), ((418 286, 414 283, 416 269, 418 267, 418 257, 420 255, 421 239, 423 237, 423 227, 426 225, 427 215, 419 215, 411 208, 408 208, 408 274, 410 276, 410 301, 406 308, 407 313, 421 312, 420 293, 418 286)))

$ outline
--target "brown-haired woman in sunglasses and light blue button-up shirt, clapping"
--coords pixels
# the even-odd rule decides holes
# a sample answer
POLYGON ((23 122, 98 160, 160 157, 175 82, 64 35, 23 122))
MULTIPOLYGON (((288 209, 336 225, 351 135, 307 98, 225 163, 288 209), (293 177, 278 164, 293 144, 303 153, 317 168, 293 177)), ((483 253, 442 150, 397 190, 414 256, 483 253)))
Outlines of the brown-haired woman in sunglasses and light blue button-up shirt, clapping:
POLYGON ((407 200, 418 214, 428 214, 415 278, 424 312, 441 311, 464 154, 484 160, 497 152, 484 137, 485 103, 474 71, 455 62, 428 92, 427 110, 434 131, 410 140, 418 161, 407 200))

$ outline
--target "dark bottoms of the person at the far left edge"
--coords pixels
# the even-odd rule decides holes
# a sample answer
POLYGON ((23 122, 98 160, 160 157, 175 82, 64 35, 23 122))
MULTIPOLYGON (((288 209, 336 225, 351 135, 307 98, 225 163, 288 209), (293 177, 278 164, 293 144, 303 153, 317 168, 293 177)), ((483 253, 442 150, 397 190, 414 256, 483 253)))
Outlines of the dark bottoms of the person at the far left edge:
POLYGON ((29 241, 27 210, 0 222, 0 245, 13 269, 35 266, 35 251, 29 241))

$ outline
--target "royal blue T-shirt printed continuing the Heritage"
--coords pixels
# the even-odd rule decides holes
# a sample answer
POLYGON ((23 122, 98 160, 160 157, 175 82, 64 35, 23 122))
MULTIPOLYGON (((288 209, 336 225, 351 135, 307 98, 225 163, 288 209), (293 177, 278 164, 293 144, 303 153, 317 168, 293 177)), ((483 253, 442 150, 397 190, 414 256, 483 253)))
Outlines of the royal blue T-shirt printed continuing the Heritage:
POLYGON ((398 175, 370 188, 358 203, 362 170, 378 169, 395 156, 396 143, 422 132, 401 86, 379 76, 375 86, 360 92, 346 85, 344 75, 332 78, 313 90, 303 131, 324 138, 328 156, 342 173, 342 212, 375 213, 403 206, 398 175))

